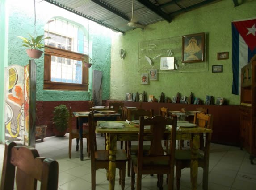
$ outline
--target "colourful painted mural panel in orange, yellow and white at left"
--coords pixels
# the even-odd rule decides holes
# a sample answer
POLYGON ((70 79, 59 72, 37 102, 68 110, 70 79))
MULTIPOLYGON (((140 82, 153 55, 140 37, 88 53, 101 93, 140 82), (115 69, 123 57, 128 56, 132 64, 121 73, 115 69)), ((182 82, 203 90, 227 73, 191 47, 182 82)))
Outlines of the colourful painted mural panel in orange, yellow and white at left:
POLYGON ((5 69, 5 141, 25 145, 24 67, 5 69))

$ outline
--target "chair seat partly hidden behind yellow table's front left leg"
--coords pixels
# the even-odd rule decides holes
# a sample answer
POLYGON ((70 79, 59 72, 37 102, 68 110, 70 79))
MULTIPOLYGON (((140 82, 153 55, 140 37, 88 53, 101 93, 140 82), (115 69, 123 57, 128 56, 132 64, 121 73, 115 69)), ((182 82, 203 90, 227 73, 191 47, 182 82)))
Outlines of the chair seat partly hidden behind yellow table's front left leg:
MULTIPOLYGON (((97 150, 95 152, 95 159, 96 160, 109 160, 109 150, 97 150)), ((116 161, 118 160, 123 160, 127 161, 127 155, 126 155, 126 150, 117 150, 116 153, 116 161)))

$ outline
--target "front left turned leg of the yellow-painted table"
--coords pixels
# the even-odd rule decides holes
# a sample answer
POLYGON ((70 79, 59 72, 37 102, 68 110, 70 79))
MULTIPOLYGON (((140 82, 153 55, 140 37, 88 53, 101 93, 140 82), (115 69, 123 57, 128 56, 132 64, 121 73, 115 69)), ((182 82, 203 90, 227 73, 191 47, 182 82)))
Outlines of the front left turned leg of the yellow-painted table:
POLYGON ((107 142, 107 147, 109 148, 109 190, 114 190, 116 178, 117 136, 109 134, 109 140, 107 142))

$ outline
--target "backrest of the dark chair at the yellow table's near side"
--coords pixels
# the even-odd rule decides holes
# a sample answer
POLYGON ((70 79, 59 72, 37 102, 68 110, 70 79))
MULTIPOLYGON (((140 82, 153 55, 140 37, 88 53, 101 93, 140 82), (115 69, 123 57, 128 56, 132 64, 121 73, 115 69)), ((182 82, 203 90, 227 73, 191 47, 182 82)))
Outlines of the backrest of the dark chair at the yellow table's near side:
MULTIPOLYGON (((169 162, 169 167, 174 167, 175 147, 176 147, 176 129, 177 129, 177 117, 165 118, 162 116, 154 116, 152 118, 144 119, 140 117, 139 126, 139 140, 138 140, 138 170, 143 169, 143 161, 164 163, 169 162), (150 132, 152 133, 151 146, 148 154, 143 154, 144 141, 144 126, 150 125, 150 132), (170 154, 164 155, 164 149, 162 146, 162 140, 166 125, 172 125, 171 129, 171 144, 170 154)), ((148 134, 147 134, 148 135, 148 134)), ((145 150, 144 150, 145 153, 145 150)))

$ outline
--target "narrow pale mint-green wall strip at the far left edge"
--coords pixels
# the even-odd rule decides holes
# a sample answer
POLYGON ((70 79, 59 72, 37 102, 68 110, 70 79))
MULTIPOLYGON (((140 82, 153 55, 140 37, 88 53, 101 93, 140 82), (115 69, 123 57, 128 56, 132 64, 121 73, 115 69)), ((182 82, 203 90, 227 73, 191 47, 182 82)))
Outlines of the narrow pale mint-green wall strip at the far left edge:
POLYGON ((0 0, 0 143, 4 142, 4 67, 7 65, 8 12, 5 0, 0 0))

